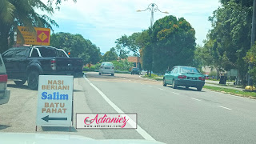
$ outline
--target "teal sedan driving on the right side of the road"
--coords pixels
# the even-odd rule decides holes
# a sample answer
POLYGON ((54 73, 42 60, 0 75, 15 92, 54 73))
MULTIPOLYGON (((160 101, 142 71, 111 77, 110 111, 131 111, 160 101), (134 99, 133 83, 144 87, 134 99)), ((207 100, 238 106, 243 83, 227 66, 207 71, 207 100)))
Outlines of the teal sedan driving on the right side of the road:
POLYGON ((198 91, 205 85, 205 77, 194 67, 174 66, 172 70, 166 71, 163 77, 163 86, 172 85, 174 89, 178 86, 196 87, 198 91))

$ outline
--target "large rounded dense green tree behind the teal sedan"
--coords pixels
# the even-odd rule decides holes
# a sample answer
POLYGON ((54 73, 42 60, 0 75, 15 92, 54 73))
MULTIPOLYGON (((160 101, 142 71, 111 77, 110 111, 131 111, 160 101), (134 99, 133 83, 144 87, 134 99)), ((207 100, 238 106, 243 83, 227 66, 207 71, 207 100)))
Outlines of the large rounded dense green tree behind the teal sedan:
POLYGON ((194 28, 185 18, 170 15, 156 21, 150 33, 154 72, 190 65, 194 59, 194 34, 194 28))

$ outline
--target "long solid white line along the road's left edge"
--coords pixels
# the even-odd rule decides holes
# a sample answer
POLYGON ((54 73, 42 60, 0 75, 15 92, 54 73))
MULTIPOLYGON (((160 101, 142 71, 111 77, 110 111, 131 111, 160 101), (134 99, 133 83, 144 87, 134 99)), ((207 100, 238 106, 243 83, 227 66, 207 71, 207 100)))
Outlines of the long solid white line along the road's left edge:
MULTIPOLYGON (((85 75, 83 76, 83 78, 85 78, 86 81, 88 80, 85 75)), ((94 89, 98 91, 98 94, 101 94, 102 98, 104 98, 105 101, 108 102, 109 105, 112 106, 114 110, 116 110, 118 113, 124 113, 121 109, 118 108, 118 106, 116 106, 113 102, 111 102, 110 98, 107 98, 106 95, 104 93, 102 93, 101 90, 99 90, 96 86, 94 86, 94 84, 90 83, 90 86, 93 86, 94 89)), ((129 118, 129 117, 127 116, 127 118, 129 118)), ((130 119, 129 123, 131 125, 134 124, 134 121, 131 118, 129 118, 129 119, 130 119)), ((137 124, 137 126, 138 126, 138 124, 137 124)), ((137 130, 138 134, 141 134, 142 137, 145 138, 146 140, 155 141, 155 139, 152 138, 150 136, 150 134, 148 134, 145 130, 143 130, 141 126, 138 126, 137 129, 135 129, 135 130, 137 130)))

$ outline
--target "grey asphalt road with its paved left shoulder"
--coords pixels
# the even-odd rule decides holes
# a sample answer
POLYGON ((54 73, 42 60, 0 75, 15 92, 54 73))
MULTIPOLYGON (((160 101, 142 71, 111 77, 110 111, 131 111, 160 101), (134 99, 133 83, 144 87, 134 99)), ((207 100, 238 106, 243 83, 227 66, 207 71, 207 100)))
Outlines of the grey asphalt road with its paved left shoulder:
MULTIPOLYGON (((37 91, 8 82, 10 102, 0 106, 0 132, 35 132, 37 91)), ((39 127, 37 133, 96 139, 153 139, 165 143, 255 143, 256 101, 194 88, 173 89, 138 75, 87 73, 74 78, 74 114, 138 114, 137 130, 39 127), (97 89, 97 90, 96 90, 97 89), (99 91, 101 93, 99 93, 99 91), (102 97, 105 94, 110 102, 102 97)))

